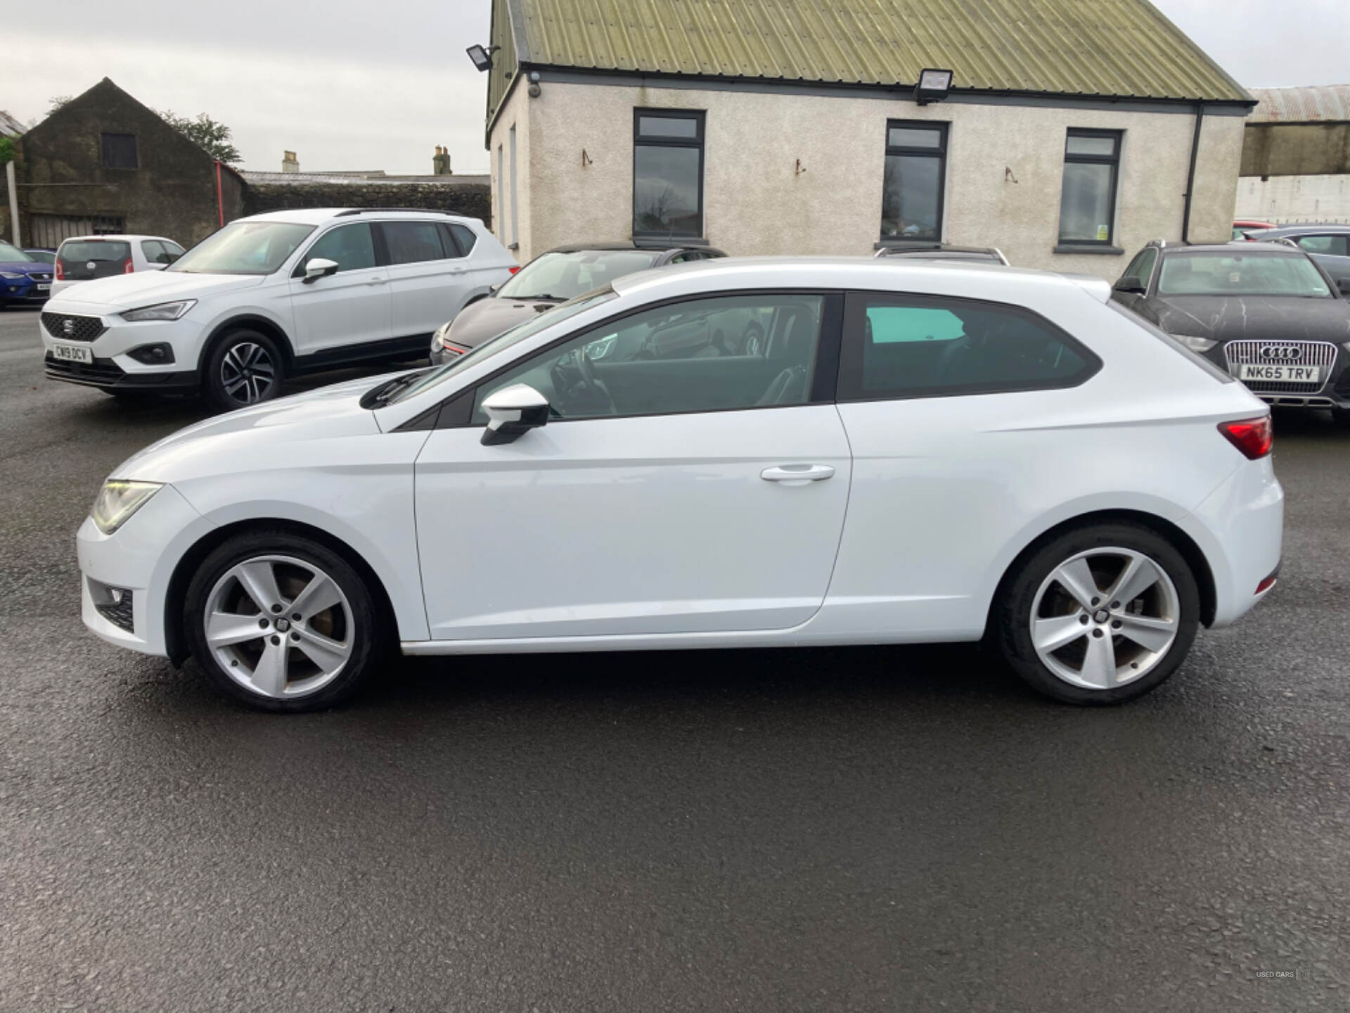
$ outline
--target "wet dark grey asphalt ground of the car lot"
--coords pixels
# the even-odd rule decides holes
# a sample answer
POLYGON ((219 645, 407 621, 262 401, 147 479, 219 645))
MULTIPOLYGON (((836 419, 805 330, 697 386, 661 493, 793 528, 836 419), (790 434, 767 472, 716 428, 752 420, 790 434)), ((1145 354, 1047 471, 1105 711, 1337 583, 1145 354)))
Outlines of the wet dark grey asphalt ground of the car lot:
POLYGON ((1350 431, 1277 589, 1080 710, 971 647, 405 660, 252 713, 105 646, 74 531, 204 415, 0 313, 0 1010, 1350 1006, 1350 431))

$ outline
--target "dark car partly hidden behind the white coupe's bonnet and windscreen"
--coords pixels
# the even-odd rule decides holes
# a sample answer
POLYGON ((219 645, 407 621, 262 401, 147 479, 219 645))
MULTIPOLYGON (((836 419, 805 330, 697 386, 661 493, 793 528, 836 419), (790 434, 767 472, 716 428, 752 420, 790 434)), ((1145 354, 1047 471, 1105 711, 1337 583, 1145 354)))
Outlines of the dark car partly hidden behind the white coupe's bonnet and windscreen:
POLYGON ((608 285, 622 274, 718 257, 726 254, 709 246, 678 243, 605 242, 554 247, 441 324, 432 335, 431 361, 433 365, 448 362, 535 313, 608 285))

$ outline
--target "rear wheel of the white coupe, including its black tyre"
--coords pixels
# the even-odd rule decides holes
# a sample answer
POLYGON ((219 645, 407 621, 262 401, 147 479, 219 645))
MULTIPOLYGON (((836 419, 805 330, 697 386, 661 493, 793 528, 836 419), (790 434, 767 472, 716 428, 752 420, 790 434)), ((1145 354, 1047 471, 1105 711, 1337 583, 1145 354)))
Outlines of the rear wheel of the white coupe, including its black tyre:
POLYGON ((992 632, 1013 670, 1066 704, 1123 704, 1162 685, 1200 625, 1181 554, 1143 525, 1100 524, 1041 546, 999 588, 992 632))

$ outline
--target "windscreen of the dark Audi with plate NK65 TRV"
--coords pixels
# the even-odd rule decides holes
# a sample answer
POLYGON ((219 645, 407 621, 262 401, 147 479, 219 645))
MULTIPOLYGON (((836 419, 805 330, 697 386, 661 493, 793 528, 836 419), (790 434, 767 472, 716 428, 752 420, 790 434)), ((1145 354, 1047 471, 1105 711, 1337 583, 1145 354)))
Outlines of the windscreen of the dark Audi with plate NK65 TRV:
POLYGON ((1162 259, 1160 296, 1301 296, 1331 289, 1307 257, 1295 253, 1184 253, 1162 259))

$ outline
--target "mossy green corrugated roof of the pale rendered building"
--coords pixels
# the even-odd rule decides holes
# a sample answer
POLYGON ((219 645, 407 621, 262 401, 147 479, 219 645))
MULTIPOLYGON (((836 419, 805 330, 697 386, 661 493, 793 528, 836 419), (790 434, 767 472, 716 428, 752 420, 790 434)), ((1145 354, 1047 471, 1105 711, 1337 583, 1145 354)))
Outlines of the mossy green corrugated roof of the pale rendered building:
POLYGON ((872 85, 950 68, 957 89, 1250 101, 1148 0, 520 5, 517 47, 535 66, 872 85))

